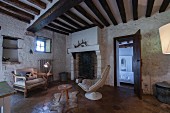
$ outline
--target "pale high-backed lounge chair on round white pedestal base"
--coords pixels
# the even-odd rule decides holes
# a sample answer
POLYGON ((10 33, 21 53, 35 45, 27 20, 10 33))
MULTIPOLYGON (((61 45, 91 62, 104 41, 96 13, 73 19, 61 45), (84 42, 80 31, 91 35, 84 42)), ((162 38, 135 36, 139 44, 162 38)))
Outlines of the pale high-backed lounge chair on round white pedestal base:
POLYGON ((105 84, 109 70, 110 65, 107 65, 101 74, 101 78, 96 78, 94 80, 84 79, 82 83, 78 84, 84 91, 86 91, 85 93, 86 98, 90 100, 99 100, 102 98, 102 94, 96 92, 96 90, 98 90, 105 84))

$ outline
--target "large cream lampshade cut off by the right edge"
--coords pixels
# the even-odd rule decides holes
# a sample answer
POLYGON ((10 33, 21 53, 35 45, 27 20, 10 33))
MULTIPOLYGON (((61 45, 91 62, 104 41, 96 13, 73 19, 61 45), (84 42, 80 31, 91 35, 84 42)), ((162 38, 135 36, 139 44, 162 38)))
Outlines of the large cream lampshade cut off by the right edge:
POLYGON ((159 28, 162 53, 170 54, 170 23, 159 28))

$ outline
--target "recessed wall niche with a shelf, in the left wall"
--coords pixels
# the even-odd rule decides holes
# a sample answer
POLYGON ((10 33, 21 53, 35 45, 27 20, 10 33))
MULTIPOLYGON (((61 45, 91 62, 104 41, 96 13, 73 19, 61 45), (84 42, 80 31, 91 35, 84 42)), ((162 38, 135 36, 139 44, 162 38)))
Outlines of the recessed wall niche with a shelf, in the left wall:
POLYGON ((18 40, 21 38, 3 35, 2 43, 2 63, 3 64, 17 64, 20 63, 18 59, 18 40))

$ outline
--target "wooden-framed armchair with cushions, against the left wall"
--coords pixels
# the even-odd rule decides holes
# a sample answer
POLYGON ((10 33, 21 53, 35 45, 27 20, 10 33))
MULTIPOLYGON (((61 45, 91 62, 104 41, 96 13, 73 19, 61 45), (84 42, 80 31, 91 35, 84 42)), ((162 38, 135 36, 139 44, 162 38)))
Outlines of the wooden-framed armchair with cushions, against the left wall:
POLYGON ((47 74, 37 73, 34 68, 17 69, 13 72, 13 76, 14 89, 24 92, 24 97, 27 97, 28 91, 34 88, 47 88, 47 74))

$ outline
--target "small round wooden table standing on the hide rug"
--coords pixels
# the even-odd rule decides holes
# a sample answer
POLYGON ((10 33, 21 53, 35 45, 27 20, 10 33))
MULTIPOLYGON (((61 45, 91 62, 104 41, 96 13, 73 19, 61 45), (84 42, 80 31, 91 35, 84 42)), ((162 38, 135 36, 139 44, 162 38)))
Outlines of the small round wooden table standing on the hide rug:
POLYGON ((66 101, 68 102, 69 95, 68 95, 68 90, 72 88, 71 84, 62 84, 58 86, 58 90, 61 91, 61 94, 63 95, 64 92, 66 93, 66 101))

